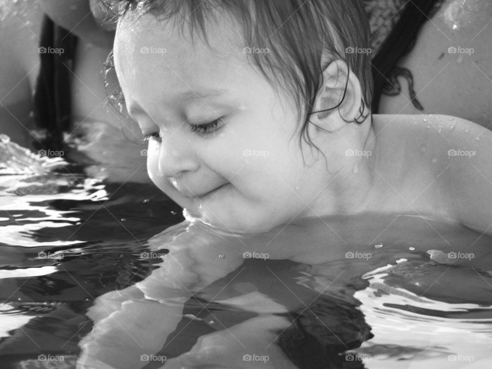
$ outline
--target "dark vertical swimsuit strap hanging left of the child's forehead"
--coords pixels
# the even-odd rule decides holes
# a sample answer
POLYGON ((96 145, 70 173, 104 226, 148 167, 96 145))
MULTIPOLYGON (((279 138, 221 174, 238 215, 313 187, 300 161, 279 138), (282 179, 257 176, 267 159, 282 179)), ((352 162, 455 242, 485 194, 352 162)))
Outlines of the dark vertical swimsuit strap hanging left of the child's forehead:
MULTIPOLYGON (((40 69, 34 93, 34 116, 46 131, 39 149, 58 150, 71 125, 71 79, 77 37, 45 15, 39 43, 40 69)), ((36 145, 37 144, 37 145, 36 145)))

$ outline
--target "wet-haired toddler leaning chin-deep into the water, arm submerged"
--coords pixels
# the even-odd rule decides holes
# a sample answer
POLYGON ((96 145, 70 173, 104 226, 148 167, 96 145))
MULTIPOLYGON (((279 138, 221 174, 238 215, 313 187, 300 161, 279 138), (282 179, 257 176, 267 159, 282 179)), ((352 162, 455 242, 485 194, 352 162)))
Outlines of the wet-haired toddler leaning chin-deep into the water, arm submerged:
MULTIPOLYGON (((183 303, 238 269, 252 244, 310 265, 345 252, 336 237, 329 250, 296 240, 310 219, 406 213, 492 234, 492 132, 447 116, 372 116, 358 0, 112 5, 115 69, 149 141, 149 176, 188 221, 149 241, 166 248, 151 276, 96 300, 79 367, 143 367, 183 303)), ((262 367, 296 367, 274 343, 286 309, 245 296, 220 302, 255 318, 201 337, 165 367, 258 365, 247 352, 268 356, 262 367)))

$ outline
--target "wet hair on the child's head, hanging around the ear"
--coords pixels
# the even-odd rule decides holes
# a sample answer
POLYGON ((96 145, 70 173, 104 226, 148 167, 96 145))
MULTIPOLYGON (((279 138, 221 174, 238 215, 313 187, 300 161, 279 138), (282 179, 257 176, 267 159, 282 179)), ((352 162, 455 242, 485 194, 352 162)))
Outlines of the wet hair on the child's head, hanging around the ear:
MULTIPOLYGON (((275 88, 291 93, 298 111, 300 143, 314 145, 308 125, 316 96, 323 87, 324 68, 335 59, 346 62, 362 86, 361 123, 372 95, 370 28, 360 0, 101 0, 117 15, 150 13, 158 20, 181 16, 193 35, 205 40, 206 22, 217 9, 232 15, 241 26, 244 47, 269 50, 250 53, 255 66, 275 88), (366 52, 364 52, 364 50, 366 52), (362 52, 359 52, 362 51, 362 52)), ((179 23, 176 23, 179 24, 179 23)), ((347 82, 348 83, 348 80, 347 82)), ((337 109, 339 104, 324 111, 337 109)))

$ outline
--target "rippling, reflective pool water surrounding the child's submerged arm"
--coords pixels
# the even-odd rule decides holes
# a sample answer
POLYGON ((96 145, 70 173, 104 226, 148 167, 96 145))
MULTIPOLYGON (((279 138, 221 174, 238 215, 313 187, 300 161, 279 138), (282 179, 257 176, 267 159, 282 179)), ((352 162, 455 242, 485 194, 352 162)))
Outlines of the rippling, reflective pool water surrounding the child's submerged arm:
MULTIPOLYGON (((152 185, 88 178, 71 165, 23 165, 0 176, 0 367, 75 368, 78 344, 94 326, 87 314, 94 300, 145 285, 166 262, 152 256, 167 252, 164 241, 156 246, 161 235, 184 218, 152 185)), ((264 304, 291 321, 276 332, 276 344, 298 367, 492 366, 492 239, 415 215, 310 219, 295 230, 277 242, 302 247, 312 261, 246 256, 188 296, 154 357, 170 360, 200 336, 232 335, 238 326, 235 337, 254 338, 258 332, 244 322, 264 304)), ((167 303, 153 293, 160 302, 141 302, 167 303)), ((125 355, 107 364, 136 367, 125 355)), ((275 367, 274 360, 242 364, 275 367)))

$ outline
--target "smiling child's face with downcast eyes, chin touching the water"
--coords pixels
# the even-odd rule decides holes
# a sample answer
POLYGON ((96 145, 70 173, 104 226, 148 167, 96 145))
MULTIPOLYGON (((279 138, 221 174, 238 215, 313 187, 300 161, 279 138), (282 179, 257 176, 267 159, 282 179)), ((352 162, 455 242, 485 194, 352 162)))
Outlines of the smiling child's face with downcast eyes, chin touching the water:
POLYGON ((304 163, 294 104, 248 63, 239 30, 209 27, 208 46, 200 37, 192 43, 186 25, 184 35, 172 27, 148 14, 123 18, 115 39, 127 108, 144 134, 161 136, 147 151, 154 183, 229 231, 262 232, 322 213, 332 175, 307 145, 304 163), (192 132, 217 118, 210 131, 192 132))

